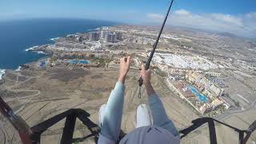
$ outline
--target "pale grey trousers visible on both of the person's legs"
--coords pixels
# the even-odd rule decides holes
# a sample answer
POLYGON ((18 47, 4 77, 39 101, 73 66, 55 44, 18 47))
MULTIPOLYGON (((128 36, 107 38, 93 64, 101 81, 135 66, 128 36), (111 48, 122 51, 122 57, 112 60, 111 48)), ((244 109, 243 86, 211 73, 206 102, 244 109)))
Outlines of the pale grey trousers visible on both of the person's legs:
MULTIPOLYGON (((99 126, 102 126, 102 118, 104 117, 105 110, 106 104, 103 104, 98 111, 99 126)), ((150 110, 147 108, 146 104, 141 104, 138 106, 136 114, 136 123, 136 128, 152 125, 150 118, 150 110)))

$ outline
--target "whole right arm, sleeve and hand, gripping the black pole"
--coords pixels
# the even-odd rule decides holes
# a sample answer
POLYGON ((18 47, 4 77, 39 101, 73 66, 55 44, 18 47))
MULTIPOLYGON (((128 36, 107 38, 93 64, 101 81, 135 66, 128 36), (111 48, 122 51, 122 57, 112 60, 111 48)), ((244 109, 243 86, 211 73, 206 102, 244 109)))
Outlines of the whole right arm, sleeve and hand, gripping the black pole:
POLYGON ((166 110, 162 105, 162 101, 155 93, 153 86, 150 82, 150 70, 145 70, 144 66, 142 66, 141 76, 143 79, 143 83, 146 88, 146 93, 148 94, 148 101, 150 105, 150 111, 153 117, 153 125, 162 127, 168 130, 174 136, 178 135, 178 130, 174 126, 174 122, 172 122, 166 114, 166 110))

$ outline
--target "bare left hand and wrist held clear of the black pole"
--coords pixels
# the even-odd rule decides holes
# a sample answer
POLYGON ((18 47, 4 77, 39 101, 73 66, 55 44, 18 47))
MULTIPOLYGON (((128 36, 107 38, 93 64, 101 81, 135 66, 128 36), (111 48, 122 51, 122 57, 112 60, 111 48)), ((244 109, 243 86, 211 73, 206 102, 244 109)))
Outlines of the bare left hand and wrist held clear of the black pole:
POLYGON ((129 69, 130 69, 130 56, 120 58, 118 82, 122 82, 123 84, 125 83, 126 74, 128 73, 129 69))

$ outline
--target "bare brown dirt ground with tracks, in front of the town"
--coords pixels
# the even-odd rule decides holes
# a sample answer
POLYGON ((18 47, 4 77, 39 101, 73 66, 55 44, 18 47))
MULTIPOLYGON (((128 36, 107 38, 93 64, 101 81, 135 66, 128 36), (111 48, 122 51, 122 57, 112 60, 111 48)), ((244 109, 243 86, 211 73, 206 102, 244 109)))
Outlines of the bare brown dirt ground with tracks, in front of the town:
MULTIPOLYGON (((30 126, 36 125, 71 108, 88 111, 90 119, 98 123, 99 107, 106 103, 118 78, 114 69, 82 69, 78 67, 55 67, 47 70, 7 71, 6 82, 1 86, 3 98, 30 126)), ((166 113, 179 130, 190 126, 198 118, 190 107, 179 100, 167 87, 164 78, 153 75, 152 83, 161 96, 166 113)), ((138 71, 130 70, 126 78, 125 106, 122 130, 129 132, 136 126, 136 108, 146 103, 146 91, 142 87, 142 99, 138 99, 138 71)), ((0 138, 3 143, 21 143, 18 134, 6 119, 1 118, 0 138)), ((42 134, 42 143, 59 143, 64 120, 42 134)), ((81 122, 77 122, 74 138, 88 133, 81 122)), ((1 142, 0 142, 1 143, 1 142)), ((82 142, 88 143, 88 142, 82 142)))

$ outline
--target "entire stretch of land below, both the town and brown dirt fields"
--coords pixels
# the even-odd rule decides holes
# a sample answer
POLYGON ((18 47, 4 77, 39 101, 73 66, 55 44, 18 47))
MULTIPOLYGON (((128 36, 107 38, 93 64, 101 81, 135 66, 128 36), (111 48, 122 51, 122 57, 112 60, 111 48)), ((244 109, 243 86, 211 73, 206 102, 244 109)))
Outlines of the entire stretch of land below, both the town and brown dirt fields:
MULTIPOLYGON (((147 103, 145 87, 138 87, 139 72, 158 30, 156 26, 103 26, 51 38, 48 44, 26 49, 27 53, 45 54, 44 58, 17 70, 0 70, 0 94, 29 126, 70 109, 86 110, 90 120, 98 123, 99 107, 106 103, 118 77, 119 59, 130 55, 122 130, 134 130, 137 107, 147 103)), ((255 54, 256 44, 248 39, 166 27, 150 64, 151 82, 178 130, 203 117, 241 129, 254 122, 255 54)), ((0 138, 20 143, 10 122, 0 121, 5 130, 0 138)), ((60 143, 64 122, 42 134, 42 142, 60 143)), ((89 134, 82 122, 77 124, 74 138, 89 134)), ((237 142, 234 131, 217 125, 216 131, 224 143, 237 142), (227 135, 229 142, 225 141, 227 135)), ((207 138, 208 127, 202 126, 182 138, 182 143, 210 142, 207 138)))

